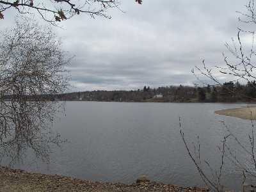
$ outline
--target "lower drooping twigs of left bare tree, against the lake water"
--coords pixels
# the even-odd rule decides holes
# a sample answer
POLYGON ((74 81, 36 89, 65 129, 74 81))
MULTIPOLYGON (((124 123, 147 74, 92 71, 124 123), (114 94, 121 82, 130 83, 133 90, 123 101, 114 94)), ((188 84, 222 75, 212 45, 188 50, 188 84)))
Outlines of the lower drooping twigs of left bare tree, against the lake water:
MULTIPOLYGON (((14 96, 13 96, 14 97, 14 96)), ((0 102, 0 163, 9 166, 40 159, 49 163, 52 145, 65 142, 52 131, 63 103, 12 99, 0 102)))

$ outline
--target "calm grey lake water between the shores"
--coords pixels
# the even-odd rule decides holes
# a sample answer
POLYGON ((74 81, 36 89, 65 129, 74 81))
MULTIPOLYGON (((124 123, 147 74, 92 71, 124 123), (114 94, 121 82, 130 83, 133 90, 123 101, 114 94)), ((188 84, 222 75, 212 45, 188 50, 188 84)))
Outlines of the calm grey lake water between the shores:
MULTIPOLYGON (((214 111, 241 106, 246 104, 67 102, 66 115, 60 115, 54 129, 68 143, 54 148, 50 164, 36 161, 15 168, 127 184, 143 174, 168 184, 200 186, 202 180, 180 138, 179 117, 192 151, 198 135, 202 158, 216 166, 216 146, 224 132, 221 121, 238 136, 250 132, 251 122, 214 111)), ((227 167, 227 186, 239 188, 240 178, 240 172, 227 167)))

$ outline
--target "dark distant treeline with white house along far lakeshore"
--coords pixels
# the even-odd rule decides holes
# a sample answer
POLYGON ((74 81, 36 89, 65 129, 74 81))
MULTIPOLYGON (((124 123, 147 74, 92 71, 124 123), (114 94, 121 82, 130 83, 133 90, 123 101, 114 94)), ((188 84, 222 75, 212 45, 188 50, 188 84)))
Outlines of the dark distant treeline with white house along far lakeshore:
POLYGON ((255 102, 256 83, 228 82, 218 86, 162 86, 131 91, 92 91, 54 95, 55 100, 106 102, 255 102))

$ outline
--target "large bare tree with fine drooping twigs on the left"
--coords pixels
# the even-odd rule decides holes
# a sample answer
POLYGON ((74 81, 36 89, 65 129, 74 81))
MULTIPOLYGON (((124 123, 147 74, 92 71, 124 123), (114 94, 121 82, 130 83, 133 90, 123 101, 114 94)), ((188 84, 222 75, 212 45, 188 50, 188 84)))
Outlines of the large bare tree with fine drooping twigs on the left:
POLYGON ((61 109, 53 95, 68 88, 65 65, 70 62, 51 28, 22 17, 1 33, 0 159, 21 159, 30 148, 49 161, 51 145, 63 141, 52 132, 61 109))

